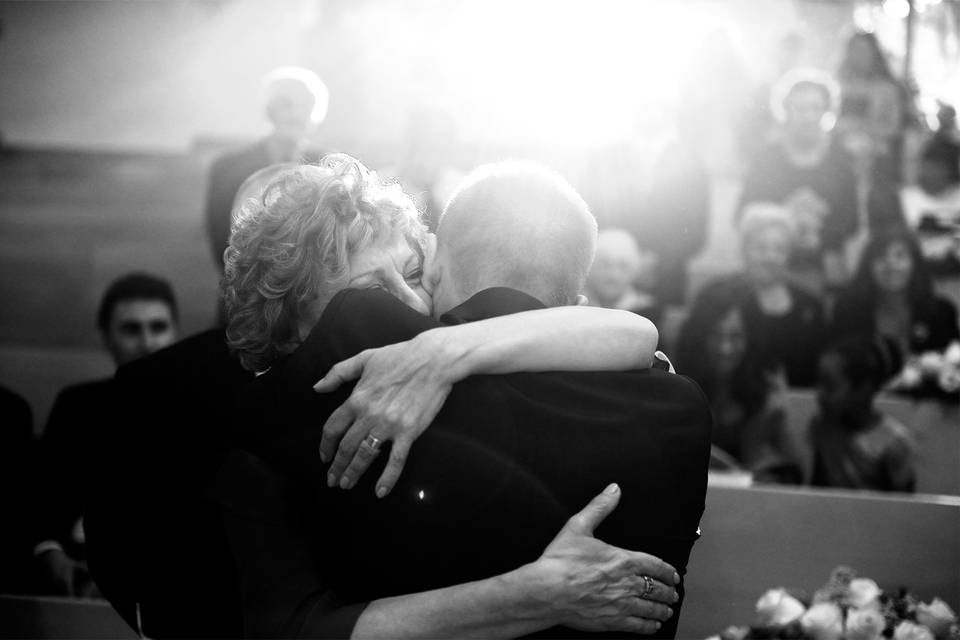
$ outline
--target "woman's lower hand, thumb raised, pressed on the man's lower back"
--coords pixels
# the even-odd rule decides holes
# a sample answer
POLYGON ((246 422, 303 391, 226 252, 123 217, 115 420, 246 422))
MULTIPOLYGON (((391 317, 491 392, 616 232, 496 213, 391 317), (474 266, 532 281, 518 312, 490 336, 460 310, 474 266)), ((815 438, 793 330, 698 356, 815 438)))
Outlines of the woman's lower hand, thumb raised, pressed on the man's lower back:
POLYGON ((680 576, 659 558, 593 537, 619 501, 617 485, 607 487, 567 521, 532 566, 543 572, 544 605, 561 624, 583 631, 655 633, 673 615, 680 576))

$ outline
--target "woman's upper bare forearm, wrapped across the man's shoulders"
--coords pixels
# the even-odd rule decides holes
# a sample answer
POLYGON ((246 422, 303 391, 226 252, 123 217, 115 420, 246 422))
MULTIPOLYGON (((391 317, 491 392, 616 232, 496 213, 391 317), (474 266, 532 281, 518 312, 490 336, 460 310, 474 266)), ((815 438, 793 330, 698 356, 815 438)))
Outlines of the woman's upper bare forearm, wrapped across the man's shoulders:
POLYGON ((653 362, 659 334, 629 311, 554 307, 431 329, 416 338, 454 381, 519 371, 622 371, 653 362))

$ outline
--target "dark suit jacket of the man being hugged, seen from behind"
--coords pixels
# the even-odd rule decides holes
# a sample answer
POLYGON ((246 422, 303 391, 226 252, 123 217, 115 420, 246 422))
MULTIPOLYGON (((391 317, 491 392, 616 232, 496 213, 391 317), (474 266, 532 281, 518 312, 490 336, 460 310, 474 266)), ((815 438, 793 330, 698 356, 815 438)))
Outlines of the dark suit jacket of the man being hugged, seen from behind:
MULTIPOLYGON (((491 289, 443 320, 541 306, 491 289)), ((355 620, 365 601, 514 569, 535 560, 566 518, 613 481, 623 499, 598 535, 684 571, 704 507, 711 419, 692 381, 662 371, 468 379, 417 441, 388 498, 372 495, 382 464, 352 491, 327 489, 317 445, 349 389, 322 396, 311 385, 346 356, 433 326, 385 293, 343 292, 301 348, 243 394, 246 448, 282 470, 298 494, 268 502, 299 505, 258 515, 231 494, 251 471, 249 458, 235 460, 219 483, 234 513, 248 507, 227 527, 248 634, 343 635, 329 620, 330 590, 354 603, 355 620), (298 563, 278 560, 284 554, 311 561, 291 571, 298 563)), ((661 635, 676 632, 676 619, 661 635)))

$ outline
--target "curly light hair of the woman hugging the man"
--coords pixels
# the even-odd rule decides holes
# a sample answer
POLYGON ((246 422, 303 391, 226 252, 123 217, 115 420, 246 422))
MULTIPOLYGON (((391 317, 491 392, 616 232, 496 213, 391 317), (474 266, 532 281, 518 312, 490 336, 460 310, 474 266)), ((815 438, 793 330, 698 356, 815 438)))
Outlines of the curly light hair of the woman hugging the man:
POLYGON ((243 366, 263 371, 300 343, 300 326, 348 279, 358 251, 403 234, 423 247, 413 201, 346 154, 274 178, 238 209, 223 254, 227 343, 243 366))

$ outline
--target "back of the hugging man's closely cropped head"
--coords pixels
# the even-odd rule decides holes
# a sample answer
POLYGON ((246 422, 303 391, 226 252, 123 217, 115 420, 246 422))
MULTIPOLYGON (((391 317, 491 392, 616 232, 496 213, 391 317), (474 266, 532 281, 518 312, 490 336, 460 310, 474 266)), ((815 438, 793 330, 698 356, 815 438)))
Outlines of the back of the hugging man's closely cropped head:
POLYGON ((560 175, 533 162, 508 161, 481 166, 464 179, 443 213, 437 240, 438 263, 452 280, 444 286, 456 292, 457 303, 483 289, 510 287, 559 306, 575 303, 583 289, 597 222, 560 175))

